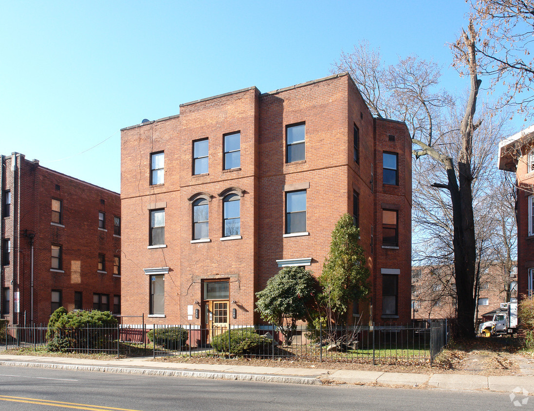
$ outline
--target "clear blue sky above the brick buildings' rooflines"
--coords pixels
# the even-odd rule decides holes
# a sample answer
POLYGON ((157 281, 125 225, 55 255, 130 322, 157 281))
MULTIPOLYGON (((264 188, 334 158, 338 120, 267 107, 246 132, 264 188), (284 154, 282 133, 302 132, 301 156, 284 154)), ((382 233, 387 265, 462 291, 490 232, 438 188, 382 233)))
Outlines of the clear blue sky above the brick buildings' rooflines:
POLYGON ((447 46, 466 25, 464 0, 0 6, 0 153, 114 191, 120 128, 177 114, 195 99, 324 77, 362 39, 387 63, 410 53, 434 58, 444 87, 466 88, 447 46))

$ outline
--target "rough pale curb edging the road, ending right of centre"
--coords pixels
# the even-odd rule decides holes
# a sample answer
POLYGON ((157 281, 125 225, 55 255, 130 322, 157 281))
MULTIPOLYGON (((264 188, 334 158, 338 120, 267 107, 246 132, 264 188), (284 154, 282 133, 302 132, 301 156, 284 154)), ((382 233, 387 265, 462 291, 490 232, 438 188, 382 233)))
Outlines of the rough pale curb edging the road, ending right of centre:
POLYGON ((166 377, 187 377, 206 379, 230 379, 234 381, 258 381, 264 383, 285 383, 285 384, 306 384, 322 385, 319 378, 293 377, 265 374, 234 374, 234 373, 210 373, 207 371, 184 371, 184 370, 162 370, 155 368, 127 368, 127 367, 103 367, 103 366, 83 366, 74 364, 55 364, 46 362, 21 362, 21 361, 0 361, 0 366, 12 367, 36 367, 63 369, 71 371, 96 371, 98 373, 115 374, 139 374, 139 375, 159 375, 166 377))

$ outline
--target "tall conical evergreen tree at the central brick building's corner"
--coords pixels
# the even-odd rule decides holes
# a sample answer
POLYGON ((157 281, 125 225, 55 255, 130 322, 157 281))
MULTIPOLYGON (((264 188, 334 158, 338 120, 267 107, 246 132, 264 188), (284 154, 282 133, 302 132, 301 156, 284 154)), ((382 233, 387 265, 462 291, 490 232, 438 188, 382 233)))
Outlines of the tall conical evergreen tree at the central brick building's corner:
POLYGON ((332 231, 330 253, 319 276, 320 321, 326 322, 326 332, 332 338, 337 326, 347 326, 349 306, 369 293, 370 271, 358 242, 359 229, 354 226, 354 219, 343 214, 332 231))

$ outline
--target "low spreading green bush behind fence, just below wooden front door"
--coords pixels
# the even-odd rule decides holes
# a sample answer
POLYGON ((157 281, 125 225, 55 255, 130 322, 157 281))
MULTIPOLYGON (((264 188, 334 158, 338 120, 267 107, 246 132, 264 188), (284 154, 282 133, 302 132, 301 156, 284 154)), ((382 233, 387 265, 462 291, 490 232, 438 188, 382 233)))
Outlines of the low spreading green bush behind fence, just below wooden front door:
POLYGON ((228 330, 211 338, 211 346, 218 352, 230 352, 230 354, 258 354, 268 353, 272 346, 272 340, 257 334, 254 328, 236 328, 228 330), (228 350, 228 338, 231 335, 230 351, 228 350))

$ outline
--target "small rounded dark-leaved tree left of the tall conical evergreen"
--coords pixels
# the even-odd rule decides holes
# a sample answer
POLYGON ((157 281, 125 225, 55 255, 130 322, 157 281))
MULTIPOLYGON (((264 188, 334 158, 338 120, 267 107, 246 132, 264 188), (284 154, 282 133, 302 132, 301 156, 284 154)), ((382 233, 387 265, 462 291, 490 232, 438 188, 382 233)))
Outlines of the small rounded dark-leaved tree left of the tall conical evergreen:
POLYGON ((278 325, 289 345, 297 321, 308 317, 307 305, 314 292, 311 271, 284 267, 267 282, 264 290, 256 293, 256 309, 264 321, 278 325))

